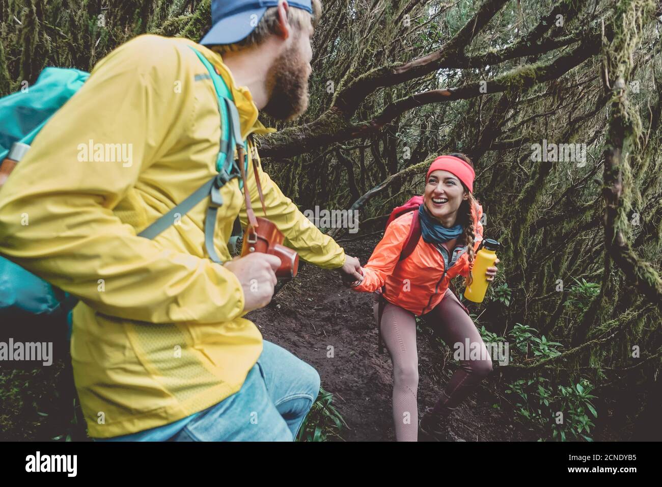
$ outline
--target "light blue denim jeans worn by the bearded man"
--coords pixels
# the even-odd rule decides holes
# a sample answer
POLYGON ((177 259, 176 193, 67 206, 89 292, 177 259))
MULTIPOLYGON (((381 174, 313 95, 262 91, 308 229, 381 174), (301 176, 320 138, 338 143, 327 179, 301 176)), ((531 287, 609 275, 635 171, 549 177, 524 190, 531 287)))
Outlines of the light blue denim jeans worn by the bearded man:
POLYGON ((107 440, 293 441, 319 391, 312 366, 264 340, 258 362, 232 396, 175 423, 107 440))

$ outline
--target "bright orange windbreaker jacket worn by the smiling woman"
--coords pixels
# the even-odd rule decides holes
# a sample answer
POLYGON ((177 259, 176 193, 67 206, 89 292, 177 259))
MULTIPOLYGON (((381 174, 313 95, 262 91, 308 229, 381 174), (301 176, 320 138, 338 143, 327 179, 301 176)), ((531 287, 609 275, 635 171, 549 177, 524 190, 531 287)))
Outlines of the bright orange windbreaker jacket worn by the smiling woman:
MULTIPOLYGON (((483 207, 476 203, 473 210, 474 251, 477 251, 483 241, 483 207)), ((426 243, 422 236, 410 256, 399 261, 413 215, 414 211, 409 211, 391 222, 368 263, 363 266, 363 281, 352 289, 373 292, 385 285, 383 294, 387 301, 415 315, 424 315, 439 304, 452 278, 469 274, 473 262, 469 264, 466 245, 455 246, 448 256, 445 248, 426 243)))

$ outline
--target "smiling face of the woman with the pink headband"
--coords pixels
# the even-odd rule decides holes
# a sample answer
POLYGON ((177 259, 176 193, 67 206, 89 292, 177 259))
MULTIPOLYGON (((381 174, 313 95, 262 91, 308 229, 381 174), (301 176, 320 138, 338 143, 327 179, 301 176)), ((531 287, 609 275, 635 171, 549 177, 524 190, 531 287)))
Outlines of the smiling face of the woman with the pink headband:
POLYGON ((455 225, 457 210, 462 201, 469 197, 462 183, 453 173, 438 169, 432 171, 425 185, 423 202, 430 215, 445 227, 455 225))

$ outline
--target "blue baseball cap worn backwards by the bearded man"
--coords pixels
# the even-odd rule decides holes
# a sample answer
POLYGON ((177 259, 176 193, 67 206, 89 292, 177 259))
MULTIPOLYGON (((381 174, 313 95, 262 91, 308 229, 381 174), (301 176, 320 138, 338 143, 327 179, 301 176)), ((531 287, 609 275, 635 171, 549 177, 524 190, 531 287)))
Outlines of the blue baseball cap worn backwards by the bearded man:
MULTIPOLYGON (((278 0, 212 0, 212 27, 200 44, 233 44, 246 38, 257 27, 269 7, 276 7, 278 0)), ((312 14, 310 0, 287 1, 295 9, 312 14)))

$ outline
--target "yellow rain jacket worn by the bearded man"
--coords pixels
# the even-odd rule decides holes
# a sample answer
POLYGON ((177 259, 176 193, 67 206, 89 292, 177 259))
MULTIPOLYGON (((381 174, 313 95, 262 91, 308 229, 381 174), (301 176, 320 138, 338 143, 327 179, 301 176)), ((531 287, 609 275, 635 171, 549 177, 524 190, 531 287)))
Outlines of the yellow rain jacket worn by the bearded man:
MULTIPOLYGON (((189 46, 230 87, 242 138, 273 131, 218 54, 143 35, 95 66, 0 191, 0 252, 81 298, 71 358, 91 437, 136 433, 213 406, 241 388, 262 350, 260 331, 242 318, 238 279, 205 255, 208 199, 156 239, 136 236, 216 174, 218 103, 189 46), (117 148, 122 160, 109 156, 117 148)), ((249 157, 258 157, 249 141, 249 157)), ((322 268, 342 266, 343 249, 261 167, 260 180, 285 244, 322 268)), ((248 187, 263 216, 252 170, 248 187)), ((214 244, 230 260, 226 242, 237 215, 246 225, 246 208, 237 178, 221 194, 214 244)))

